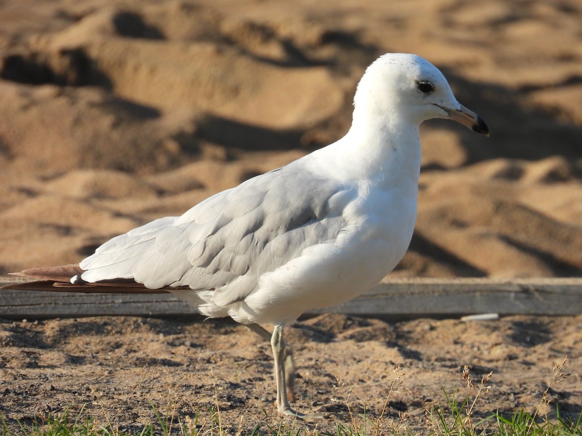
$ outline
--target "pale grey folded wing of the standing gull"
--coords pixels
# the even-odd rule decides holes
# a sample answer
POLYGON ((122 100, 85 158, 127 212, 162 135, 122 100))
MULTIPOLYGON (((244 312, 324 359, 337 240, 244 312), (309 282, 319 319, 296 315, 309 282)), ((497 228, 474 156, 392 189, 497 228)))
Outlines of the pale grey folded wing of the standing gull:
POLYGON ((227 305, 248 295, 262 273, 333 241, 356 192, 288 165, 106 242, 83 260, 87 282, 133 279, 146 287, 214 290, 227 305), (300 183, 299 183, 300 181, 300 183))

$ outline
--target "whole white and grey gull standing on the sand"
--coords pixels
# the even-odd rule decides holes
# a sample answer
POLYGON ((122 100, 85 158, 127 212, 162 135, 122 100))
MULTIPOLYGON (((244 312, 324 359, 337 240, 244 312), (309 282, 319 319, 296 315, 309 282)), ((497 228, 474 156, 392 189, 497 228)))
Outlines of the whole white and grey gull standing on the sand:
POLYGON ((283 328, 370 290, 403 258, 416 221, 419 127, 432 118, 489 134, 435 66, 388 53, 365 70, 339 141, 112 238, 78 266, 16 274, 65 290, 165 290, 205 316, 230 316, 271 342, 278 412, 312 417, 289 403, 283 328))

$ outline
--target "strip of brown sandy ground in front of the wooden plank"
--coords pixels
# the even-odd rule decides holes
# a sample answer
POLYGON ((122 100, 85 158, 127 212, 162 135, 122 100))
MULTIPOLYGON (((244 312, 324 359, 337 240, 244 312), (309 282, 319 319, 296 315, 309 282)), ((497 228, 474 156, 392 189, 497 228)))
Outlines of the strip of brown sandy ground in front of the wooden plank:
POLYGON ((344 392, 352 387, 347 402, 352 413, 365 409, 377 418, 400 364, 403 383, 389 398, 384 426, 406 413, 404 424, 427 434, 425 410, 446 404, 442 389, 464 395, 464 364, 475 382, 493 371, 491 391, 477 403, 478 412, 509 415, 526 408, 533 413, 553 365, 568 355, 565 372, 572 375, 553 385, 549 398, 563 416, 574 418, 582 410, 581 321, 580 316, 516 316, 480 323, 387 323, 341 315, 303 320, 287 334, 296 355, 295 405, 325 415, 303 423, 276 413, 270 346, 232 321, 5 321, 0 324, 0 413, 16 428, 16 419, 30 424, 35 415, 62 413, 72 404, 73 416, 84 407, 83 416, 132 433, 157 423, 152 406, 183 423, 198 412, 203 431, 210 431, 211 410, 218 408, 229 434, 249 434, 257 424, 262 434, 281 425, 334 433, 337 423, 350 423, 350 415, 333 387, 345 384, 344 392))

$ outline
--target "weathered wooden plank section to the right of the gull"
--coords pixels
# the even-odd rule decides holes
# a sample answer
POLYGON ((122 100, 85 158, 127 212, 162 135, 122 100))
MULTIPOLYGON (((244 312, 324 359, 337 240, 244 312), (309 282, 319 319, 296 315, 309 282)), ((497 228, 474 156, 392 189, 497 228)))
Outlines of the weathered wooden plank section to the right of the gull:
POLYGON ((579 315, 582 280, 391 280, 327 312, 404 317, 460 317, 478 313, 579 315))

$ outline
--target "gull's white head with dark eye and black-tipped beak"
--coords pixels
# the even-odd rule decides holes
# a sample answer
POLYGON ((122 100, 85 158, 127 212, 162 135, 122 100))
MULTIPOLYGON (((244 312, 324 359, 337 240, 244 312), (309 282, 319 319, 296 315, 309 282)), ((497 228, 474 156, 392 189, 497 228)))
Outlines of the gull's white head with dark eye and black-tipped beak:
POLYGON ((420 125, 431 118, 448 118, 489 135, 485 121, 457 102, 445 76, 417 55, 387 53, 367 69, 354 97, 354 121, 404 121, 420 125))

